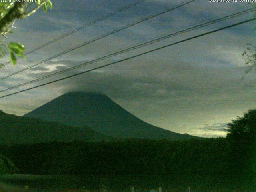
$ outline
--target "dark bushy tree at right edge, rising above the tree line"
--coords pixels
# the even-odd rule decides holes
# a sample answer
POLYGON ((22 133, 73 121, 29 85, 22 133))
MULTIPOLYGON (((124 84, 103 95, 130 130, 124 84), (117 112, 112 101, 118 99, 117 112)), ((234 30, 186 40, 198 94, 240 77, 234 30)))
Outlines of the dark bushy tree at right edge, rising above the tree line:
POLYGON ((256 109, 249 110, 228 124, 227 139, 232 146, 232 166, 243 170, 243 177, 256 177, 256 109))

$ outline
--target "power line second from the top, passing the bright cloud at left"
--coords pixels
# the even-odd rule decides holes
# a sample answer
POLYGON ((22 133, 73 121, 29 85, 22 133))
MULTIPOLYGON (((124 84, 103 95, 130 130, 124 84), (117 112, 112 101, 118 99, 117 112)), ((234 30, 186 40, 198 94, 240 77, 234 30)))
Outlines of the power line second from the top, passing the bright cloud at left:
POLYGON ((140 19, 140 20, 138 20, 138 21, 135 21, 135 22, 133 22, 133 23, 131 23, 131 24, 127 24, 126 26, 122 26, 121 28, 118 28, 117 30, 114 30, 114 31, 112 31, 112 32, 108 32, 108 33, 106 33, 106 34, 104 34, 104 35, 102 35, 102 36, 99 36, 99 37, 97 37, 97 38, 94 38, 94 39, 92 39, 92 40, 89 40, 89 41, 87 41, 87 42, 84 42, 84 43, 82 43, 82 44, 80 44, 80 45, 78 45, 78 46, 75 46, 75 47, 73 47, 73 48, 70 48, 70 49, 68 49, 68 50, 65 50, 64 52, 58 53, 58 54, 56 54, 56 55, 54 55, 54 56, 52 56, 52 57, 50 57, 50 58, 46 58, 46 59, 44 59, 44 60, 42 60, 42 61, 40 61, 40 62, 37 62, 37 63, 35 63, 35 64, 33 64, 33 65, 30 65, 30 66, 28 66, 28 67, 26 67, 26 68, 23 68, 23 69, 21 69, 21 70, 18 70, 18 71, 16 71, 16 72, 13 72, 13 73, 11 73, 11 74, 8 74, 8 75, 6 75, 6 76, 0 78, 0 80, 4 80, 4 79, 6 79, 6 78, 8 78, 8 77, 10 77, 10 76, 13 76, 13 75, 15 75, 15 74, 18 74, 18 73, 23 72, 23 71, 25 71, 25 70, 28 70, 28 69, 30 69, 30 68, 33 68, 34 66, 37 66, 37 65, 39 65, 39 64, 42 64, 42 63, 44 63, 44 62, 46 62, 46 61, 48 61, 48 60, 51 60, 51 59, 56 58, 56 57, 58 57, 58 56, 64 55, 64 54, 66 54, 66 53, 68 53, 68 52, 71 52, 71 51, 73 51, 73 50, 76 50, 76 49, 78 49, 78 48, 80 48, 80 47, 82 47, 82 46, 88 45, 88 44, 90 44, 90 43, 92 43, 92 42, 95 42, 95 41, 97 41, 97 40, 100 40, 100 39, 102 39, 102 38, 105 38, 106 36, 110 36, 110 35, 115 34, 115 33, 119 32, 119 31, 121 31, 121 30, 124 30, 124 29, 126 29, 126 28, 129 28, 129 27, 131 27, 131 26, 134 26, 134 25, 136 25, 136 24, 139 24, 139 23, 141 23, 141 22, 144 22, 144 21, 146 21, 146 20, 149 20, 149 19, 154 18, 154 17, 156 17, 156 16, 159 16, 159 15, 161 15, 161 14, 164 14, 164 13, 166 13, 166 12, 170 12, 170 11, 176 9, 176 8, 179 8, 179 7, 181 7, 181 6, 184 6, 184 5, 189 4, 189 3, 191 3, 191 2, 194 2, 194 1, 196 1, 196 0, 190 0, 190 1, 187 1, 187 2, 183 2, 183 3, 181 3, 181 4, 177 5, 177 6, 173 6, 173 7, 170 8, 170 9, 164 10, 164 11, 162 11, 162 12, 158 12, 158 13, 156 13, 156 14, 154 14, 154 15, 150 15, 150 16, 148 16, 148 17, 146 17, 146 18, 142 18, 142 19, 140 19))

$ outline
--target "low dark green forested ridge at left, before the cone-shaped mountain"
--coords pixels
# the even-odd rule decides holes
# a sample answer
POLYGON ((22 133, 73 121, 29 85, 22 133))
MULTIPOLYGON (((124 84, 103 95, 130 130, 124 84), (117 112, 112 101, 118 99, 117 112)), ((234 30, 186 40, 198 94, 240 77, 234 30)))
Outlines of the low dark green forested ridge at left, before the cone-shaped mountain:
POLYGON ((74 140, 109 140, 110 137, 86 127, 73 127, 0 111, 0 144, 30 144, 74 140))

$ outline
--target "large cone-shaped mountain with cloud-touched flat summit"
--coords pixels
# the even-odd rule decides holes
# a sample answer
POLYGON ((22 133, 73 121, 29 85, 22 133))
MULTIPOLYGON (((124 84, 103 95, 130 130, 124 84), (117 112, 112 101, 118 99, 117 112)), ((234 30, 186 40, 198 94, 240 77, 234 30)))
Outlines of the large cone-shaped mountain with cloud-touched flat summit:
POLYGON ((148 124, 127 112, 106 95, 92 92, 63 94, 29 112, 25 117, 69 126, 87 126, 114 138, 185 140, 194 137, 148 124))

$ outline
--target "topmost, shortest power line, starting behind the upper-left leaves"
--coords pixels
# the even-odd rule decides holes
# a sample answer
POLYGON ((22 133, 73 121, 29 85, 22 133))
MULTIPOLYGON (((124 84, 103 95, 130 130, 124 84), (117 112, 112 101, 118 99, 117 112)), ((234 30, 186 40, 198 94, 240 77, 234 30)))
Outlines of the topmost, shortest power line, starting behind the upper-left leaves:
MULTIPOLYGON (((39 46, 39 47, 37 47, 37 48, 34 48, 34 49, 32 49, 32 50, 26 52, 24 55, 28 55, 28 54, 31 54, 31 53, 37 51, 37 50, 40 50, 40 49, 44 48, 45 46, 48 46, 48 45, 50 45, 50 44, 52 44, 52 43, 54 43, 54 42, 56 42, 56 41, 58 41, 58 40, 61 40, 61 39, 65 38, 65 37, 67 37, 67 36, 69 36, 69 35, 71 35, 71 34, 73 34, 73 33, 76 33, 76 32, 78 32, 78 31, 80 31, 80 30, 82 30, 82 29, 88 27, 88 26, 91 26, 91 25, 93 25, 93 24, 96 24, 96 23, 98 23, 98 22, 100 22, 100 21, 102 21, 102 20, 105 20, 105 19, 107 19, 107 18, 109 18, 109 17, 111 17, 111 16, 113 16, 113 15, 116 15, 116 14, 118 14, 118 13, 124 11, 124 10, 127 10, 127 9, 129 9, 129 8, 131 8, 131 7, 133 7, 133 6, 136 6, 136 5, 138 5, 138 4, 140 4, 140 3, 144 2, 144 1, 146 1, 146 0, 138 0, 138 1, 134 2, 134 3, 132 3, 132 4, 128 4, 127 6, 124 6, 124 7, 120 8, 120 9, 116 10, 115 12, 112 12, 112 13, 110 13, 110 14, 107 14, 106 16, 103 16, 102 18, 98 18, 98 19, 96 19, 96 20, 94 20, 94 21, 92 21, 92 22, 90 22, 90 23, 88 23, 88 24, 85 24, 85 25, 83 25, 83 26, 80 26, 80 27, 78 27, 78 28, 76 28, 76 29, 74 29, 74 30, 72 30, 72 31, 70 31, 70 32, 68 32, 68 33, 66 33, 66 34, 63 34, 62 36, 59 36, 59 37, 57 37, 57 38, 55 38, 55 39, 53 39, 53 40, 51 40, 51 41, 49 41, 49 42, 47 42, 47 43, 45 43, 45 44, 39 46)), ((20 58, 21 58, 21 57, 18 57, 17 59, 20 59, 20 58)), ((9 64, 9 63, 10 63, 10 61, 4 63, 4 66, 7 65, 7 64, 9 64)))

